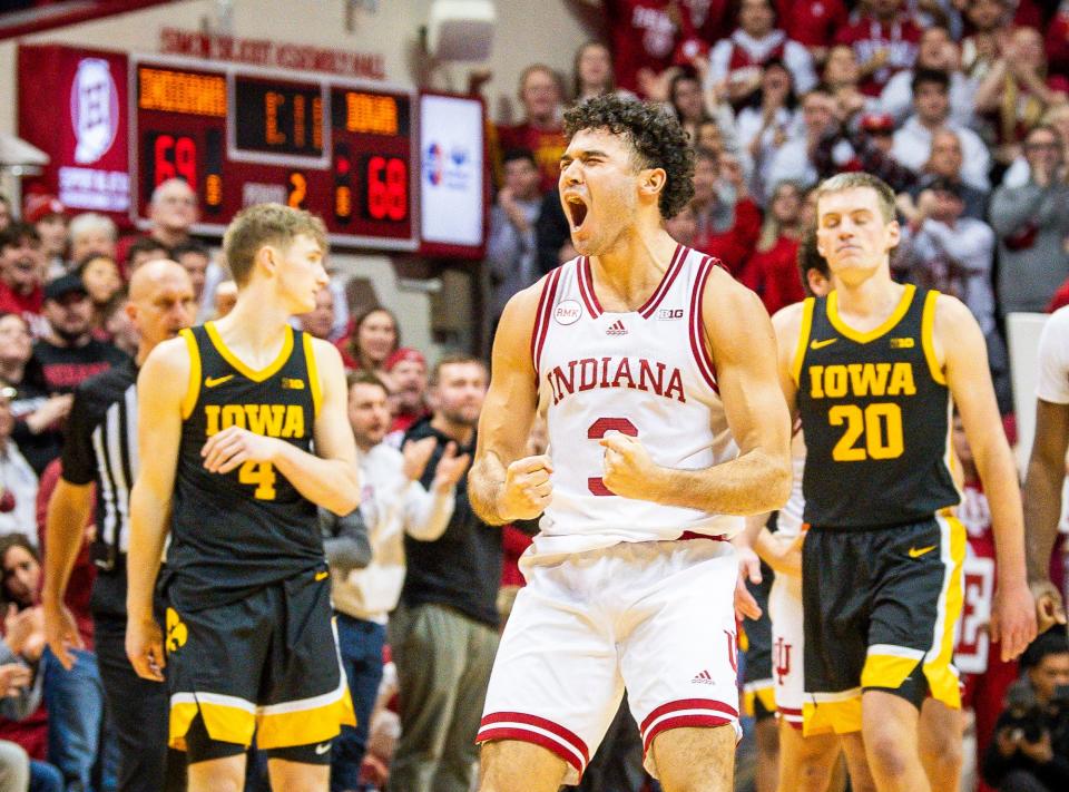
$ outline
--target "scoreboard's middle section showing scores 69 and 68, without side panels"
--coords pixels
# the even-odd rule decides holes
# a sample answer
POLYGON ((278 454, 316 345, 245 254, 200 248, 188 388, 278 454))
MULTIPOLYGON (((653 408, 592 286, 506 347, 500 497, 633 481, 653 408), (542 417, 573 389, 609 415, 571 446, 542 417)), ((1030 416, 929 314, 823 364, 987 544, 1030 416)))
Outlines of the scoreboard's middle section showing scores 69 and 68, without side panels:
POLYGON ((336 244, 415 250, 415 95, 333 75, 130 57, 130 199, 179 177, 203 233, 243 207, 308 209, 336 244))

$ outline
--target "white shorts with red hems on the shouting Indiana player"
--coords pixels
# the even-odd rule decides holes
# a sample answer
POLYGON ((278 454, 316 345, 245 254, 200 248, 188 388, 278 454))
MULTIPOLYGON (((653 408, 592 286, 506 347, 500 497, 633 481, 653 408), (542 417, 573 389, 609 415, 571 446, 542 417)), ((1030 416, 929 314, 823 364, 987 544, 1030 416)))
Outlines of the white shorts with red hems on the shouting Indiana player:
POLYGON ((650 745, 679 726, 738 726, 734 548, 712 538, 624 542, 521 559, 477 742, 518 740, 579 783, 625 687, 650 745))

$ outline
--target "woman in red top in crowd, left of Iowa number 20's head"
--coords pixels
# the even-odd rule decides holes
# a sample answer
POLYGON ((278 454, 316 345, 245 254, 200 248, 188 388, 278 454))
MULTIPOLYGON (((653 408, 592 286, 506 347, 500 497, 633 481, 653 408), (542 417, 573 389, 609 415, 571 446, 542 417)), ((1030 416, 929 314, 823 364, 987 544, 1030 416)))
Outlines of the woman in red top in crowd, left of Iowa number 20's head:
POLYGON ((805 297, 797 265, 801 238, 802 188, 794 182, 779 182, 768 202, 757 248, 741 278, 757 293, 769 316, 805 297))

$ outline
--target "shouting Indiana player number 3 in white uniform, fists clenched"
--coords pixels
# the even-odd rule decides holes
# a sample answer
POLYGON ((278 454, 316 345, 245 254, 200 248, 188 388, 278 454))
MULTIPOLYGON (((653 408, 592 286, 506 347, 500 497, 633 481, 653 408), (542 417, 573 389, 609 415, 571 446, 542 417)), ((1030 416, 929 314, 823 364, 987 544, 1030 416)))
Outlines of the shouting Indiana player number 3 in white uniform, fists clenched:
POLYGON ((580 255, 504 310, 469 482, 488 522, 543 515, 490 679, 480 789, 576 783, 626 687, 665 792, 726 792, 726 539, 791 482, 773 332, 753 293, 663 228, 693 192, 675 119, 599 97, 566 124, 580 255), (537 411, 549 450, 526 457, 537 411))

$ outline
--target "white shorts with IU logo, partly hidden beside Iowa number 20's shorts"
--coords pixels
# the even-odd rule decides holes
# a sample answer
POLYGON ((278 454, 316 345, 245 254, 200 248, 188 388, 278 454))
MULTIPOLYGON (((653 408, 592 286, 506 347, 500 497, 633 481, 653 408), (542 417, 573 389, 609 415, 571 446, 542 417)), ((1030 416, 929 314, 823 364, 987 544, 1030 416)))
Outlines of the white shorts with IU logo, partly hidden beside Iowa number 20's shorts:
POLYGON ((802 665, 802 578, 776 575, 768 593, 772 618, 772 679, 776 712, 795 729, 802 729, 805 668, 802 665))

